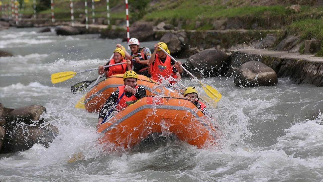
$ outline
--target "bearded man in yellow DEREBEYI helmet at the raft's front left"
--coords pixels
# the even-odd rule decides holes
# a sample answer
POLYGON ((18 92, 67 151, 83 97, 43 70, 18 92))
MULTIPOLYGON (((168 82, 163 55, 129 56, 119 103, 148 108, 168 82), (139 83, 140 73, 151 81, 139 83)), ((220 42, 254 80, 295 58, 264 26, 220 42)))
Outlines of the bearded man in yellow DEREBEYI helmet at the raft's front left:
POLYGON ((120 111, 138 98, 146 96, 145 87, 138 86, 137 79, 137 73, 134 71, 126 71, 126 73, 123 74, 124 84, 118 86, 117 90, 111 93, 110 97, 101 108, 97 128, 101 126, 102 120, 109 110, 109 112, 112 112, 113 110, 120 111))

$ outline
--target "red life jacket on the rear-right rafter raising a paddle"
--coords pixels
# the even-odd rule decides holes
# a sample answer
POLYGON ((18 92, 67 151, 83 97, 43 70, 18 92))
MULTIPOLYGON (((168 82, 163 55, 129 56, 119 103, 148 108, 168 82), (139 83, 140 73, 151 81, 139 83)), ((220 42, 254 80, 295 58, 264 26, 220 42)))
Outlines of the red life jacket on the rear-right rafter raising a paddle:
MULTIPOLYGON (((173 73, 173 65, 171 64, 171 57, 166 55, 165 63, 162 63, 158 57, 158 54, 155 56, 154 64, 151 66, 151 78, 161 83, 160 75, 163 78, 177 78, 177 75, 173 73)), ((175 83, 173 80, 170 80, 170 83, 175 83)))

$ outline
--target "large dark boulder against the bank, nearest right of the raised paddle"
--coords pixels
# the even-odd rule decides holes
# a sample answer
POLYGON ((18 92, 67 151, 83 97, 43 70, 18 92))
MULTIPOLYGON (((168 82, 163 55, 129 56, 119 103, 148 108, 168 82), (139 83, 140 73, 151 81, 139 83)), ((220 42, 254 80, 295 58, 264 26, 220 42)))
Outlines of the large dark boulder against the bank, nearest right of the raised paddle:
POLYGON ((219 50, 206 49, 187 59, 187 66, 199 70, 203 77, 224 75, 228 69, 229 56, 219 50))

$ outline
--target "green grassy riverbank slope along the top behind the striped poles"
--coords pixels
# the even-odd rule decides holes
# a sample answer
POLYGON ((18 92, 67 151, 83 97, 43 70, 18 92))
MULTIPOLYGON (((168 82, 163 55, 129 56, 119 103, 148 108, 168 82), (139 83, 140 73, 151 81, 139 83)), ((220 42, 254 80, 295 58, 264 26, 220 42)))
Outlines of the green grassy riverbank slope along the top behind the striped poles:
MULTIPOLYGON (((48 0, 47 0, 48 1, 48 0)), ((84 17, 83 0, 74 0, 74 17, 84 17)), ((240 23, 244 29, 280 29, 283 36, 295 35, 300 41, 318 39, 323 42, 323 6, 319 1, 297 1, 299 9, 290 8, 294 0, 129 0, 130 24, 141 20, 154 25, 160 22, 179 26, 186 30, 213 30, 214 22, 226 20, 240 23), (197 22, 199 26, 196 26, 197 22)), ((95 1, 95 17, 107 19, 105 0, 95 1)), ((70 1, 55 1, 55 18, 70 18, 70 1)), ((48 5, 47 5, 48 6, 48 5)), ((125 24, 124 1, 110 0, 110 22, 125 24)), ((92 2, 88 0, 89 19, 92 18, 92 2)), ((32 1, 25 5, 24 14, 32 14, 32 1)), ((51 18, 50 6, 38 12, 39 17, 51 18)), ((318 52, 323 56, 323 48, 318 52)))

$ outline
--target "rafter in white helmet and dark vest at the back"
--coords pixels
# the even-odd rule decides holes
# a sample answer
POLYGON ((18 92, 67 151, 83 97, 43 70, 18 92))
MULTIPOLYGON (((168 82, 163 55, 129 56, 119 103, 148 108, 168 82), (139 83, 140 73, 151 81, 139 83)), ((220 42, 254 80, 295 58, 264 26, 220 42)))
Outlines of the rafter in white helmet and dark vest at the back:
POLYGON ((137 74, 142 74, 150 77, 148 73, 149 58, 151 57, 151 51, 148 47, 139 47, 139 40, 136 38, 131 38, 128 41, 128 46, 130 47, 130 55, 126 57, 130 59, 133 63, 133 71, 137 74))

